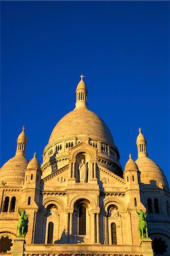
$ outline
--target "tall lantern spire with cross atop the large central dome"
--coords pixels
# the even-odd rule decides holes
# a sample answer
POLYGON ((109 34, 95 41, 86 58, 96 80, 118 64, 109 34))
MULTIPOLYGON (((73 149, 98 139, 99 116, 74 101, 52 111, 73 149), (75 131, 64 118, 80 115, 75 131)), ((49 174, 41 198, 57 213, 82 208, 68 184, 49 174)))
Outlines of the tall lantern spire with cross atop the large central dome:
POLYGON ((87 96, 88 96, 88 90, 86 88, 85 82, 84 82, 84 75, 80 76, 81 80, 78 82, 77 88, 76 88, 76 108, 88 108, 88 102, 87 102, 87 96))

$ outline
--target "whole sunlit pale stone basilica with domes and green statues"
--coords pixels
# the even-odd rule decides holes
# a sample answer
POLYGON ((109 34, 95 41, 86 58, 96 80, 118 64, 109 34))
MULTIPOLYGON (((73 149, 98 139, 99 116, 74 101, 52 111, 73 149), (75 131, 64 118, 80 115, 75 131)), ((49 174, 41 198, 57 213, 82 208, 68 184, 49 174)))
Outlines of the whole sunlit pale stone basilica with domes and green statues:
POLYGON ((167 178, 141 129, 138 158, 130 154, 122 169, 80 77, 75 108, 52 130, 42 164, 36 153, 27 159, 23 127, 15 156, 1 167, 0 255, 169 256, 167 178))

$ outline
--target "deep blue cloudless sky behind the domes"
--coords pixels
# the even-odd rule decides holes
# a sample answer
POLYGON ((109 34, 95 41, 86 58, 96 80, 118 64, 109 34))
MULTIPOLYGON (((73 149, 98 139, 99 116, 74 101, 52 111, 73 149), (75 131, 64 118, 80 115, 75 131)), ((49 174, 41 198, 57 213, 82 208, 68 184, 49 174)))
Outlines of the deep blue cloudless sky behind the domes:
MULTIPOLYGON (((169 2, 1 1, 1 166, 26 126, 27 158, 74 108, 81 73, 89 109, 113 134, 122 167, 142 127, 169 175, 169 2)), ((169 179, 169 177, 168 177, 169 179)))

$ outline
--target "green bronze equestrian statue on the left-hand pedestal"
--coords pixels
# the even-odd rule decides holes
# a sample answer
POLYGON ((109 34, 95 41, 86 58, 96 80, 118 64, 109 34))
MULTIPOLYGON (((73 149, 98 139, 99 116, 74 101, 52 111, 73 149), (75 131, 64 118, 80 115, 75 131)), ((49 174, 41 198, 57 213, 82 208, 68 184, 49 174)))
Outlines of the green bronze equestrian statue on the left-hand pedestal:
POLYGON ((26 236, 28 232, 28 217, 30 217, 28 214, 26 214, 26 211, 23 209, 22 212, 19 212, 18 207, 18 213, 20 215, 20 220, 18 221, 18 237, 24 237, 26 236))

